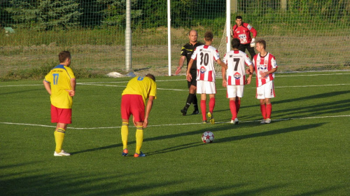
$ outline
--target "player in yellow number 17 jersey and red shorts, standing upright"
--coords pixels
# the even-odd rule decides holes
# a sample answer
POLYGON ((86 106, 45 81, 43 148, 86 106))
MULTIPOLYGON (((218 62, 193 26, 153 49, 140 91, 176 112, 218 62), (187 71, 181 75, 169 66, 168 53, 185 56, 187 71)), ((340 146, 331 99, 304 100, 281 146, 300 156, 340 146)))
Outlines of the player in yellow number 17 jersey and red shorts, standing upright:
POLYGON ((59 65, 55 66, 44 78, 43 85, 50 94, 51 123, 57 123, 55 135, 56 149, 54 156, 69 156, 62 149, 67 124, 71 124, 72 97, 76 94, 76 77, 69 67, 71 53, 59 52, 59 65))

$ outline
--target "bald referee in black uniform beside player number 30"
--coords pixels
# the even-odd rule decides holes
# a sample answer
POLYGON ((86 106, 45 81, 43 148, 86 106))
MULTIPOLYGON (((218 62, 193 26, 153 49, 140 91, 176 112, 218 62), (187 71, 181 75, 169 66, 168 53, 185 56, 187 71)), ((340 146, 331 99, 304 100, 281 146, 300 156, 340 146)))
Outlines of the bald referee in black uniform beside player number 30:
MULTIPOLYGON (((197 41, 198 34, 197 34, 196 30, 190 30, 188 32, 188 38, 190 39, 190 42, 186 43, 181 48, 181 57, 179 60, 179 66, 175 72, 176 75, 180 73, 181 68, 183 66, 183 63, 185 62, 185 59, 187 59, 187 65, 188 65, 188 62, 190 62, 191 56, 193 54, 193 51, 195 51, 195 48, 198 45, 204 45, 203 43, 200 43, 197 41)), ((200 113, 200 111, 198 110, 198 101, 197 101, 197 96, 196 96, 196 90, 197 90, 197 62, 196 62, 196 60, 195 60, 195 62, 193 62, 193 64, 195 64, 196 66, 192 66, 191 70, 190 70, 190 73, 192 75, 192 80, 190 82, 187 82, 189 94, 187 97, 185 107, 183 107, 183 109, 181 109, 181 113, 183 116, 186 115, 187 110, 190 107, 191 103, 193 103, 193 106, 195 106, 195 111, 193 111, 192 114, 200 113)), ((187 69, 187 66, 186 66, 186 69, 187 69)))

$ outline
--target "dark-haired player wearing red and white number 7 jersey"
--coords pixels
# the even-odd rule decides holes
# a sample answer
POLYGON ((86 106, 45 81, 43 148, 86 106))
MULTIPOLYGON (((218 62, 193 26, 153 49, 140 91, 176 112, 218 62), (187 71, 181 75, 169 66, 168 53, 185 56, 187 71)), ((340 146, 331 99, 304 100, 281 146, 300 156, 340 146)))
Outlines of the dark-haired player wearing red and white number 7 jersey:
POLYGON ((225 76, 226 70, 221 70, 223 74, 223 87, 227 87, 227 97, 230 99, 230 111, 232 114, 231 123, 237 124, 237 113, 241 106, 241 97, 243 97, 244 85, 251 83, 251 77, 253 76, 253 64, 251 59, 245 52, 239 50, 239 39, 233 38, 232 49, 226 53, 223 57, 223 62, 228 64, 227 77, 225 76), (246 71, 244 64, 249 66, 249 76, 246 78, 246 71))

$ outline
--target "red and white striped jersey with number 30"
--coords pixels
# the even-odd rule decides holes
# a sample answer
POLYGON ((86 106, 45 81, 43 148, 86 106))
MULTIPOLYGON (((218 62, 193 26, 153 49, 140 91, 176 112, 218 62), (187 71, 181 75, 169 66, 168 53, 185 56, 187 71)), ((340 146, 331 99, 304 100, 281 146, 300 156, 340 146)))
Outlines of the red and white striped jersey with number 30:
POLYGON ((220 59, 216 48, 211 45, 197 46, 191 59, 197 60, 197 80, 215 82, 214 62, 220 59))

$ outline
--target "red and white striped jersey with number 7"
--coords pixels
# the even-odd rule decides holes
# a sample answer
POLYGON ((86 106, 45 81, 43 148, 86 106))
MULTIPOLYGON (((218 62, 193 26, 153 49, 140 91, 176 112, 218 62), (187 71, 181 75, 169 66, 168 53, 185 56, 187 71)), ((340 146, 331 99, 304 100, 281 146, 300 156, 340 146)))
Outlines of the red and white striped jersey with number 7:
POLYGON ((223 57, 223 62, 228 65, 226 80, 228 85, 244 85, 246 81, 246 66, 250 66, 251 59, 245 52, 240 50, 231 50, 223 57))

